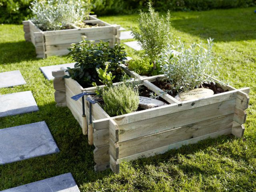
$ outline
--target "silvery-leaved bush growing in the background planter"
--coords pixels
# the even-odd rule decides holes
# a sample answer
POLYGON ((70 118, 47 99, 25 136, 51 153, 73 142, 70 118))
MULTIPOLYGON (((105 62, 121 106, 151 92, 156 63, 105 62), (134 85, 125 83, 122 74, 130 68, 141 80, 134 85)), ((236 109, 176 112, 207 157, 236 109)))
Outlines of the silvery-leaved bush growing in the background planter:
POLYGON ((92 5, 90 0, 34 0, 30 10, 32 21, 42 30, 61 30, 80 25, 88 17, 92 5))

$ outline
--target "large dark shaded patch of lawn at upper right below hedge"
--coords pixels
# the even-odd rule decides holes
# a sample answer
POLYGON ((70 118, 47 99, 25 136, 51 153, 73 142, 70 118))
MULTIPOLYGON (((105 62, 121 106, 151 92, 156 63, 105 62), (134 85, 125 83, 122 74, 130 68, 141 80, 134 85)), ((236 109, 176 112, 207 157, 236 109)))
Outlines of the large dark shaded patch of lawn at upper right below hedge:
POLYGON ((179 31, 215 42, 256 39, 254 8, 174 13, 172 25, 179 31), (176 19, 175 19, 176 17, 176 19))

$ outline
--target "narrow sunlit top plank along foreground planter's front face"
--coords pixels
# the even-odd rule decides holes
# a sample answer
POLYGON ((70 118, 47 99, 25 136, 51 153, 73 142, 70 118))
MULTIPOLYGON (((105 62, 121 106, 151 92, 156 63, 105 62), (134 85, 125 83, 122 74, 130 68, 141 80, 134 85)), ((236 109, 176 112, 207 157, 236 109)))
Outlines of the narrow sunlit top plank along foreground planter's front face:
POLYGON ((197 108, 200 106, 207 106, 210 104, 214 104, 217 102, 222 102, 226 100, 235 99, 237 95, 237 90, 224 92, 220 94, 215 94, 213 96, 206 97, 204 99, 198 99, 198 100, 190 100, 182 102, 182 106, 178 106, 178 104, 170 104, 166 106, 161 106, 157 108, 142 110, 138 112, 132 112, 125 115, 120 115, 113 117, 114 121, 118 124, 118 126, 137 122, 140 120, 146 120, 158 116, 163 116, 170 113, 179 112, 182 110, 188 110, 192 108, 197 108))

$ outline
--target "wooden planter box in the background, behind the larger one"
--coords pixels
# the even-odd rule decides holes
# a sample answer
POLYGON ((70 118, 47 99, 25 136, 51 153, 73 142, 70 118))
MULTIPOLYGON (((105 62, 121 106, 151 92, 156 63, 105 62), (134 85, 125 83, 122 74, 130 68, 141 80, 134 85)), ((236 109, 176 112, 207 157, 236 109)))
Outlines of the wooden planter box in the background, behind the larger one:
POLYGON ((25 40, 34 44, 38 58, 67 54, 70 44, 80 42, 81 36, 86 36, 87 40, 96 42, 108 41, 110 46, 120 42, 120 26, 108 24, 96 17, 96 15, 91 15, 84 23, 98 24, 99 27, 78 28, 74 26, 74 29, 56 31, 42 31, 32 21, 23 21, 25 40))

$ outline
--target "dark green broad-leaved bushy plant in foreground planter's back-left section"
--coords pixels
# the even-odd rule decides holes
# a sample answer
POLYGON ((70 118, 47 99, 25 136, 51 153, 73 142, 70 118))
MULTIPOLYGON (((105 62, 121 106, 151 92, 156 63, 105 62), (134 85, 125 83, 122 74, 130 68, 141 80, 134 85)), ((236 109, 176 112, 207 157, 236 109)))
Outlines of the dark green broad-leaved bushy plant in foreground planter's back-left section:
POLYGON ((95 43, 83 36, 80 43, 71 44, 69 51, 69 56, 76 64, 74 68, 68 68, 68 75, 65 78, 71 77, 85 88, 92 86, 93 82, 98 85, 110 83, 108 78, 111 79, 111 83, 122 80, 123 72, 118 65, 125 63, 126 52, 120 44, 109 47, 108 42, 95 43))

